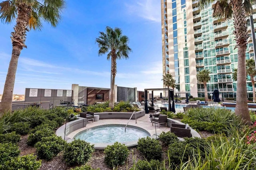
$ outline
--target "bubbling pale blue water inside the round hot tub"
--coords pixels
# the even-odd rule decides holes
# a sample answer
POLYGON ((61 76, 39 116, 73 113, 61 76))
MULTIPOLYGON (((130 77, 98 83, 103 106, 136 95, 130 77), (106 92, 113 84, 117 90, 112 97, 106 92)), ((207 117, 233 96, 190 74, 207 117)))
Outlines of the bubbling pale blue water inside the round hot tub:
POLYGON ((114 143, 136 141, 139 138, 150 136, 146 131, 140 129, 126 127, 98 127, 96 129, 88 129, 77 135, 75 139, 81 139, 90 143, 114 143))

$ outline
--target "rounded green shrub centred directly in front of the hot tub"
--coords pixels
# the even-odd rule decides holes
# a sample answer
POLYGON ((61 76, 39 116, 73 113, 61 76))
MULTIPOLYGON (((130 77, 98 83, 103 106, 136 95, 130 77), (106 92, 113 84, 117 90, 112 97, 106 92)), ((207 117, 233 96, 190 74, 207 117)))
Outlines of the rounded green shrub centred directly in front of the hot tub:
POLYGON ((118 165, 123 165, 128 157, 128 148, 119 142, 115 142, 113 145, 108 145, 104 150, 105 163, 113 168, 118 165))

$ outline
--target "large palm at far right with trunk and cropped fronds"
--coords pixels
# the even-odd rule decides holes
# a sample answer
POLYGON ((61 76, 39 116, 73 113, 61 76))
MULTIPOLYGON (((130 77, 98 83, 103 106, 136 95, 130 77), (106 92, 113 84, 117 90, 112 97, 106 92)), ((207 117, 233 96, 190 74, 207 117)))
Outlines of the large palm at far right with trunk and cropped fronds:
MULTIPOLYGON (((200 8, 209 6, 215 0, 199 0, 200 8)), ((245 123, 252 123, 247 104, 246 90, 246 44, 247 44, 247 26, 246 14, 252 11, 252 3, 255 0, 217 0, 214 4, 213 15, 216 18, 233 18, 234 35, 236 40, 235 48, 238 48, 238 74, 237 74, 237 91, 236 91, 236 115, 239 115, 245 123)))

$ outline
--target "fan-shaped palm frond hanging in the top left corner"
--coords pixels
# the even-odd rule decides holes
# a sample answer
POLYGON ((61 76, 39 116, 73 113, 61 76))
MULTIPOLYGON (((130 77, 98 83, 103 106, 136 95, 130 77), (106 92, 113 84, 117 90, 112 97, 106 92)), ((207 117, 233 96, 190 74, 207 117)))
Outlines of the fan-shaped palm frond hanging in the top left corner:
POLYGON ((0 3, 0 19, 2 22, 11 23, 17 16, 17 10, 12 1, 7 0, 0 3))

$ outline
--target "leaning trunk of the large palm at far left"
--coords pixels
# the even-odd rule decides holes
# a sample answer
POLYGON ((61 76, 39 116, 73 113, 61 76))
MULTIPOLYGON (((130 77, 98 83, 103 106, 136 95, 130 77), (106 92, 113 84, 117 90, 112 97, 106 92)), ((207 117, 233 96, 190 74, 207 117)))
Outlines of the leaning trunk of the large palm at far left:
POLYGON ((18 66, 18 59, 20 57, 20 52, 23 47, 26 47, 26 31, 29 21, 31 9, 27 6, 20 4, 18 6, 18 17, 16 25, 14 27, 14 32, 12 32, 12 58, 9 64, 5 84, 4 92, 2 96, 2 101, 0 104, 0 116, 6 112, 12 110, 12 94, 14 89, 14 82, 16 76, 16 70, 18 66))

